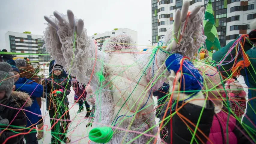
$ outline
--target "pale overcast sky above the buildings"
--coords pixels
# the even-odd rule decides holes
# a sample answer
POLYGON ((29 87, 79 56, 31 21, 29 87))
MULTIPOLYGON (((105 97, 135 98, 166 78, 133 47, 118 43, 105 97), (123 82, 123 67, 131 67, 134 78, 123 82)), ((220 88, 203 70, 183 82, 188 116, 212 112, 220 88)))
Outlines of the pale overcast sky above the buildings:
POLYGON ((5 48, 5 33, 29 31, 43 35, 44 15, 70 9, 84 20, 89 36, 129 28, 138 32, 138 43, 150 45, 151 1, 149 0, 2 0, 0 6, 0 49, 5 48))

